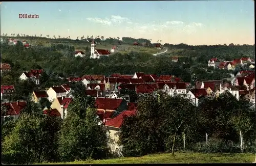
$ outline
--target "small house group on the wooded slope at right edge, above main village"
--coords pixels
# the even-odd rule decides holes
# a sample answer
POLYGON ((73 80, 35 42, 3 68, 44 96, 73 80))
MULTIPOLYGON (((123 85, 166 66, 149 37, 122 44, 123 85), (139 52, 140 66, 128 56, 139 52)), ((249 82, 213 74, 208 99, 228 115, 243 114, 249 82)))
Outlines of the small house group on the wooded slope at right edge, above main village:
POLYGON ((214 69, 234 70, 236 65, 250 64, 250 68, 254 68, 254 60, 250 58, 234 59, 233 61, 220 61, 218 58, 211 58, 208 61, 208 67, 214 67, 214 69))

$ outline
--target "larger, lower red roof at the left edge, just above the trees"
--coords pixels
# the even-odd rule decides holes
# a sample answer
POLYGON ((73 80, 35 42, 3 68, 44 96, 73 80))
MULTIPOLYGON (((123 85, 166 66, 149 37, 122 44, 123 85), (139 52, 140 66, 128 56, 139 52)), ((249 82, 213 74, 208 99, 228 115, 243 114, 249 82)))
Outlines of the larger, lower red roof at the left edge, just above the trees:
POLYGON ((5 102, 2 105, 7 106, 7 113, 1 113, 2 116, 19 115, 20 110, 24 109, 27 105, 26 101, 19 102, 5 102))

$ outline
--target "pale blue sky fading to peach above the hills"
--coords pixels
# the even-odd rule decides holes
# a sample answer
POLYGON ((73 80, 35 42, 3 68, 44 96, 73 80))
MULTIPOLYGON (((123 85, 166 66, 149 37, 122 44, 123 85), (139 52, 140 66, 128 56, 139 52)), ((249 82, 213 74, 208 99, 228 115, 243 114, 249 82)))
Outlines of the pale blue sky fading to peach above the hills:
POLYGON ((1 34, 254 44, 254 1, 2 2, 1 34), (37 14, 39 18, 19 18, 37 14))

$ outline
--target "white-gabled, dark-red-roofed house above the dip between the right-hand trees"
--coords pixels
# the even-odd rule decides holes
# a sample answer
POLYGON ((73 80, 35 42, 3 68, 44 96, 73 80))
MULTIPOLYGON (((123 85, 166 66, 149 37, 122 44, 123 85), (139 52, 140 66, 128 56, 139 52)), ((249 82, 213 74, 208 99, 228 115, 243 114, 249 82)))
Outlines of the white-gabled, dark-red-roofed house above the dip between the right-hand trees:
POLYGON ((199 100, 205 96, 207 96, 206 89, 191 89, 187 92, 187 98, 191 100, 191 102, 196 106, 198 106, 199 100))

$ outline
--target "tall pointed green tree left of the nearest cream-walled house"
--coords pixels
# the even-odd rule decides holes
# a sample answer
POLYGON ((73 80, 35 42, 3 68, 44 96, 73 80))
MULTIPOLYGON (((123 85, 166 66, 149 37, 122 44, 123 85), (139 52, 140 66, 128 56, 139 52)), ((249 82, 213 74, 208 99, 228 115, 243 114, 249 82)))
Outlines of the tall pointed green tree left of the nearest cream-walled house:
POLYGON ((94 100, 85 94, 82 85, 77 86, 69 106, 67 118, 60 130, 59 149, 62 161, 103 158, 106 151, 106 130, 98 125, 94 100), (67 132, 70 131, 70 132, 67 132))

